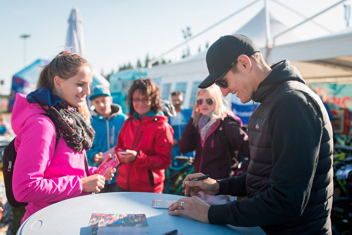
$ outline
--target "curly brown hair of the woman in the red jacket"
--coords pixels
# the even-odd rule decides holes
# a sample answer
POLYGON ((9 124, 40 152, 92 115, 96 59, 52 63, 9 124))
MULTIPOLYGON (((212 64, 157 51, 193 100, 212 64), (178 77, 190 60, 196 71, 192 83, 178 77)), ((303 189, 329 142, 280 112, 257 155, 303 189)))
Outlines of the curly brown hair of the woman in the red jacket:
POLYGON ((159 88, 150 79, 137 79, 133 81, 133 84, 127 93, 127 102, 130 106, 130 116, 132 116, 135 111, 132 103, 132 95, 135 90, 140 90, 147 99, 151 100, 151 111, 158 113, 159 110, 162 110, 159 88))

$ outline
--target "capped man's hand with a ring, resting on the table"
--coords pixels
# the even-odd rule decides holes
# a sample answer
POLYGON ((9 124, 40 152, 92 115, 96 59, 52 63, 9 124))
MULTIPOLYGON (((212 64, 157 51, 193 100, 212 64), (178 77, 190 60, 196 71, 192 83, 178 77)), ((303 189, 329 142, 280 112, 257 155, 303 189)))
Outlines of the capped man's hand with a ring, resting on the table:
POLYGON ((185 197, 172 203, 169 207, 169 215, 186 215, 193 220, 209 223, 208 210, 210 205, 199 197, 185 197), (181 208, 182 203, 182 209, 181 208))

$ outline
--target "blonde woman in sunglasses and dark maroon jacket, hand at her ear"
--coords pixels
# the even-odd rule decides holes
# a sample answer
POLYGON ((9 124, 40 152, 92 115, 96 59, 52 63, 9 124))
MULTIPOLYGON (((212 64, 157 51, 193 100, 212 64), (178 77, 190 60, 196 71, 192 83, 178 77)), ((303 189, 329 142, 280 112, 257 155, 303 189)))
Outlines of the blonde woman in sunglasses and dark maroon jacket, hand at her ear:
MULTIPOLYGON (((180 140, 180 152, 187 153, 195 150, 194 172, 208 174, 212 179, 225 179, 242 174, 246 171, 245 165, 248 161, 243 164, 240 171, 237 171, 238 169, 231 171, 226 155, 226 145, 228 145, 228 149, 240 152, 250 159, 248 136, 241 125, 241 119, 227 107, 218 86, 214 84, 200 89, 191 118, 180 140), (221 129, 224 130, 227 142, 221 139, 221 129)), ((234 152, 229 152, 233 158, 234 152)), ((218 204, 228 202, 226 195, 210 196, 202 192, 200 194, 206 201, 218 204)))

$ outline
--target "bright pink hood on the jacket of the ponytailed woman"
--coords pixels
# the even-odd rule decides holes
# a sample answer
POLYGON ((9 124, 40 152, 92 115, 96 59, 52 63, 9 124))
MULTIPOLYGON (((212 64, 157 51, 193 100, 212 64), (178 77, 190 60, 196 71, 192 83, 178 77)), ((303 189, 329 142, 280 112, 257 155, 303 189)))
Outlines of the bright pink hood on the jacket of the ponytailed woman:
POLYGON ((16 94, 16 101, 11 113, 11 127, 15 134, 24 126, 28 118, 35 114, 45 113, 38 103, 27 102, 26 97, 25 94, 16 94))

